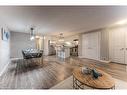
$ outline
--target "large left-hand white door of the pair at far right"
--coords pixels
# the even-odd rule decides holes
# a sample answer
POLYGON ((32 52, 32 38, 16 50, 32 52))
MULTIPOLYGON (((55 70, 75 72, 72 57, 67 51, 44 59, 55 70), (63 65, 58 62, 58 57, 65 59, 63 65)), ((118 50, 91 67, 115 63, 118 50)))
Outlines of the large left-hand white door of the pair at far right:
POLYGON ((125 37, 124 37, 124 29, 117 28, 109 31, 110 34, 110 54, 111 60, 117 63, 124 63, 124 55, 125 55, 125 37))

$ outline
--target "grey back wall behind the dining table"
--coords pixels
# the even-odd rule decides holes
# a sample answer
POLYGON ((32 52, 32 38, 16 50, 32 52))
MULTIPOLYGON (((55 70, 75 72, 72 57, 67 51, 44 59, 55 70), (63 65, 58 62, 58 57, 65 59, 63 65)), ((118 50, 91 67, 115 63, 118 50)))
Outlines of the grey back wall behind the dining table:
POLYGON ((22 58, 22 50, 36 48, 35 40, 30 41, 28 33, 11 32, 10 39, 11 58, 22 58))

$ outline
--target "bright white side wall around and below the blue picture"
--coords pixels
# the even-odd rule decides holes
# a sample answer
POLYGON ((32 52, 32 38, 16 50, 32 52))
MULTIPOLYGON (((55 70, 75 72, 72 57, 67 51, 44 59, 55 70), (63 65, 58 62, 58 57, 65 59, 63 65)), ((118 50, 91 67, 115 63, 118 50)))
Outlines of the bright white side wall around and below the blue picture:
POLYGON ((10 39, 8 41, 2 40, 0 27, 0 74, 10 62, 10 39))

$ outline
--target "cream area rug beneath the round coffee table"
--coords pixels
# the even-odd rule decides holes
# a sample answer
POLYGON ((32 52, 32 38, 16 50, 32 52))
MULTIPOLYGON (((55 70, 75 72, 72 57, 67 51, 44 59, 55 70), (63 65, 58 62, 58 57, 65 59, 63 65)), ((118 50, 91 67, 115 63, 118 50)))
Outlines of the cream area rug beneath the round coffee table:
MULTIPOLYGON (((115 89, 127 89, 127 82, 115 79, 115 89)), ((70 76, 69 78, 65 79, 64 81, 58 83, 57 85, 53 86, 51 89, 73 89, 73 77, 70 76)), ((85 86, 84 89, 91 89, 88 86, 85 86)))

